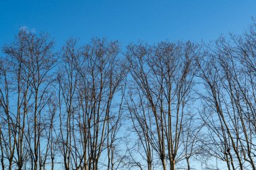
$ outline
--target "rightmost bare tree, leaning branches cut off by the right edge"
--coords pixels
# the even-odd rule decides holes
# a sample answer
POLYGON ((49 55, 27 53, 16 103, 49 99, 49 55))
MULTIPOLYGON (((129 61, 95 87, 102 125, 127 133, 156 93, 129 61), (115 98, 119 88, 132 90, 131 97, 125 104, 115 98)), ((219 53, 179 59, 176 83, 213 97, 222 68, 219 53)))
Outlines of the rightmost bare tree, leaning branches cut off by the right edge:
POLYGON ((220 38, 199 62, 207 93, 203 120, 228 169, 255 169, 255 26, 243 36, 220 38))

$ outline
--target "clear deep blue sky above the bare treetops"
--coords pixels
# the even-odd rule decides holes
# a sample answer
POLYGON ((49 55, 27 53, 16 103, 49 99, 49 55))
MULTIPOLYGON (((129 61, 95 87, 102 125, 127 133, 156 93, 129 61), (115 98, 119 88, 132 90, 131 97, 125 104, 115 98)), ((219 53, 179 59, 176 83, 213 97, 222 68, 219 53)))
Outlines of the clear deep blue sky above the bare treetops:
POLYGON ((67 38, 119 40, 214 40, 241 34, 256 17, 254 0, 0 0, 0 46, 20 27, 67 38))

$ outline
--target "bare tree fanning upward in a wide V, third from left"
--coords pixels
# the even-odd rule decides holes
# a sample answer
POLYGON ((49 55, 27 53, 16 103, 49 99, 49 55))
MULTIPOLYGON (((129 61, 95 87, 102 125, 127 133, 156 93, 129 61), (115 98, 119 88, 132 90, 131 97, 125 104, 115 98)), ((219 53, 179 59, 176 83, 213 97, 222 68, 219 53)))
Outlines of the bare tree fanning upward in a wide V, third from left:
POLYGON ((168 165, 175 169, 176 163, 183 160, 181 136, 183 121, 189 116, 187 108, 194 84, 196 54, 197 46, 191 42, 139 44, 127 48, 134 82, 132 98, 138 103, 137 108, 142 108, 142 113, 130 111, 135 114, 144 138, 158 153, 163 169, 168 165), (141 118, 143 112, 147 116, 141 118))

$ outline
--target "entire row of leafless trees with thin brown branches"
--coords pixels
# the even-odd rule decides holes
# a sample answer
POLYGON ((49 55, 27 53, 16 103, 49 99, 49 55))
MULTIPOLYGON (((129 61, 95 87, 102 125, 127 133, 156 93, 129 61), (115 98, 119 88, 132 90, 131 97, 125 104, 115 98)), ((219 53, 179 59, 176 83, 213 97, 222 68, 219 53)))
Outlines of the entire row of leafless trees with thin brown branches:
POLYGON ((20 30, 0 58, 1 169, 255 169, 255 30, 125 50, 20 30))

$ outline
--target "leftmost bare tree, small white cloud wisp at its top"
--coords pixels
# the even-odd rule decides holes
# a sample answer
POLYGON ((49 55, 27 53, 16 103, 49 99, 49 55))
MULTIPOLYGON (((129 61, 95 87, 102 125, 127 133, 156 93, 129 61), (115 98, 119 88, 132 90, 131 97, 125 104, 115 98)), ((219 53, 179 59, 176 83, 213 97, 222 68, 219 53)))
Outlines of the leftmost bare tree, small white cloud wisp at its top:
POLYGON ((4 65, 9 67, 1 69, 1 108, 5 113, 1 120, 8 130, 1 130, 1 142, 7 149, 8 167, 22 169, 31 159, 31 168, 41 169, 41 158, 48 152, 40 141, 44 138, 44 111, 51 98, 51 70, 56 62, 53 42, 46 34, 20 30, 15 42, 4 46, 3 52, 7 55, 4 65))

